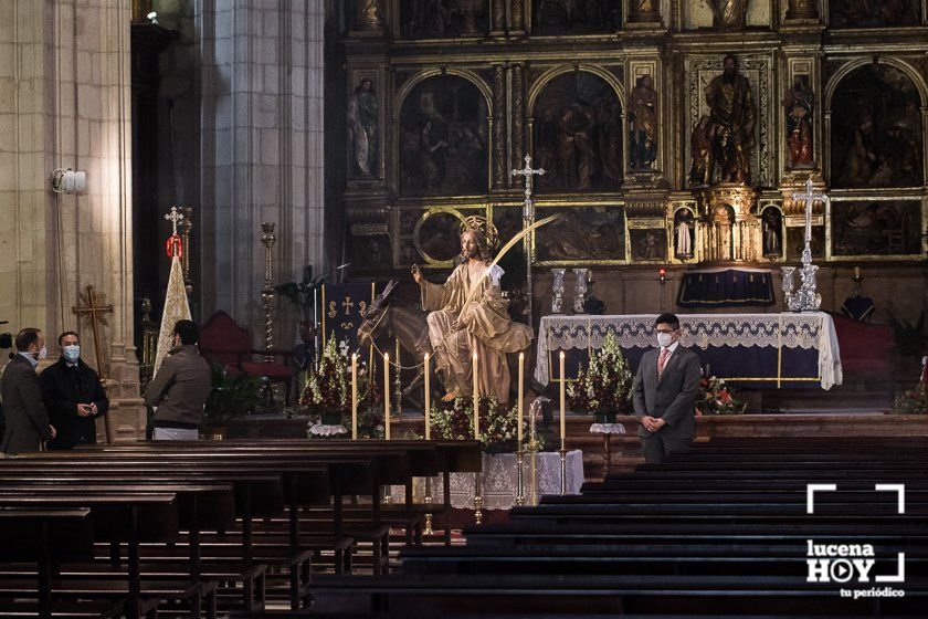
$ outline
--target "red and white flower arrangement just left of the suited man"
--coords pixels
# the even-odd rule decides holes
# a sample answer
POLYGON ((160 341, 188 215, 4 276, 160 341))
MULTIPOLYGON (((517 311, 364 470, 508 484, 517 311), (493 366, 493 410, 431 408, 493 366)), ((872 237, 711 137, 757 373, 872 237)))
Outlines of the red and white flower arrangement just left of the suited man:
POLYGON ((616 412, 626 412, 632 408, 633 379, 615 333, 610 331, 602 348, 590 352, 589 365, 568 387, 570 408, 591 412, 597 416, 597 421, 613 422, 616 412))

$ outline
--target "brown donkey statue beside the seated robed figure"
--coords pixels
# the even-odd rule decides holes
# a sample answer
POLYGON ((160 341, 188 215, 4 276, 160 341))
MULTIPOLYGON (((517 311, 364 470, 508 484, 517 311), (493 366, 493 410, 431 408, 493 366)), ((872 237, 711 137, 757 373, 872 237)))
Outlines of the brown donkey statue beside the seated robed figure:
MULTIPOLYGON (((393 303, 396 287, 397 281, 390 280, 383 292, 377 295, 373 302, 367 306, 361 315, 363 322, 358 327, 358 344, 361 347, 365 345, 371 346, 378 336, 392 334, 400 342, 402 349, 411 355, 419 365, 415 377, 403 389, 403 397, 418 400, 418 397, 411 395, 419 392, 418 389, 424 380, 425 354, 428 353, 434 358, 432 344, 429 340, 429 325, 425 322, 424 312, 393 303)), ((432 364, 432 371, 434 371, 434 364, 432 364)), ((434 380, 432 380, 432 385, 435 385, 434 380)))

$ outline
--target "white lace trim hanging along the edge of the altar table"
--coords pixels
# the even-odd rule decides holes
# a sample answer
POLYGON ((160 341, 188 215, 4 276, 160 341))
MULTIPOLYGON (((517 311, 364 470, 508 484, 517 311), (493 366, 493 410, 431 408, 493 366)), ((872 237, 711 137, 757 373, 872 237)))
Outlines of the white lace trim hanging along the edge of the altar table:
MULTIPOLYGON (((629 316, 545 316, 538 337, 535 378, 548 384, 550 350, 601 348, 615 333, 622 348, 653 348, 656 314, 629 316)), ((681 344, 702 349, 719 346, 760 346, 819 350, 822 389, 841 385, 841 354, 834 321, 823 312, 809 314, 683 314, 681 344)))

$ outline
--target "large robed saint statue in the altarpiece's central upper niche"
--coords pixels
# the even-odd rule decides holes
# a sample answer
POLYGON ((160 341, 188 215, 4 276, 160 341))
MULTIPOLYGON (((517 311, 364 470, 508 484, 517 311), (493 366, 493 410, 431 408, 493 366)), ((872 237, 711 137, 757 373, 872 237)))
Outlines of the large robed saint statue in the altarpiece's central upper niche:
POLYGON ((738 72, 738 57, 728 54, 723 73, 706 88, 709 107, 709 136, 713 158, 718 167, 716 182, 749 183, 751 149, 755 145, 755 109, 751 83, 738 72))

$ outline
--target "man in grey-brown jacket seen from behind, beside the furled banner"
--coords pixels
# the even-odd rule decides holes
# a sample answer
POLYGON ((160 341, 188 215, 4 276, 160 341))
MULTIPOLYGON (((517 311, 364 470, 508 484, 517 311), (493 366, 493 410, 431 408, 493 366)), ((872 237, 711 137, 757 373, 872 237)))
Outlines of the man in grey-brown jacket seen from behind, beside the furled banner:
POLYGON ((178 321, 173 348, 145 391, 145 403, 155 408, 156 441, 196 441, 200 438, 203 406, 212 390, 210 365, 200 356, 200 327, 178 321))

